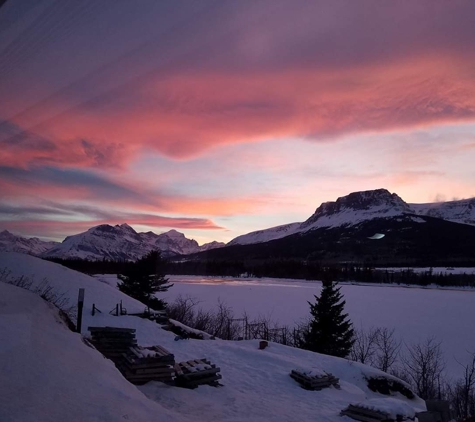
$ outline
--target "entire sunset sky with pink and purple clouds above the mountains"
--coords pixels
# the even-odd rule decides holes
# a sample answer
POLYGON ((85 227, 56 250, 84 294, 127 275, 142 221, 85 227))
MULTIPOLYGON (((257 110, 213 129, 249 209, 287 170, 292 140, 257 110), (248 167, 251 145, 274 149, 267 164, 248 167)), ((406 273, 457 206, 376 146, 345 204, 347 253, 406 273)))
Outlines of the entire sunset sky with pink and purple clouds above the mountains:
POLYGON ((200 244, 475 196, 475 2, 7 0, 0 230, 200 244))

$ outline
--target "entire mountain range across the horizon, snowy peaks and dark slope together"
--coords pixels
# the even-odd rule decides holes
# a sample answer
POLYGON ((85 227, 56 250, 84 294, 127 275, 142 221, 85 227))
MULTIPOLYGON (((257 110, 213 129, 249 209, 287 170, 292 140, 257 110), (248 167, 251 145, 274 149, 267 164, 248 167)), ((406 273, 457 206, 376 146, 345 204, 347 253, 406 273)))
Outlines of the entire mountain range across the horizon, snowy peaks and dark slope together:
POLYGON ((161 250, 167 258, 195 259, 351 261, 379 257, 410 262, 446 254, 451 262, 475 260, 475 198, 408 204, 386 189, 354 192, 321 204, 304 222, 251 232, 227 245, 210 242, 200 246, 176 230, 138 233, 128 224, 102 224, 61 243, 26 239, 6 230, 0 233, 0 250, 45 258, 136 260, 152 249, 161 250), (385 237, 368 240, 375 233, 385 237))

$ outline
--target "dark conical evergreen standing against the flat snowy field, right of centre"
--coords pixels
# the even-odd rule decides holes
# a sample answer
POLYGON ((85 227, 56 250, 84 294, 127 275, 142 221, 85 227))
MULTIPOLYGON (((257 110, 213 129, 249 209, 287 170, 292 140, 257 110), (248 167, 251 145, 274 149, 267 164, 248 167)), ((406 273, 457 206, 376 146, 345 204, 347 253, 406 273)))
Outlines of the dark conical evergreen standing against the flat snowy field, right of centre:
POLYGON ((346 357, 354 343, 354 330, 343 313, 345 301, 333 281, 324 281, 320 297, 315 304, 308 302, 312 321, 304 333, 303 349, 326 355, 346 357))

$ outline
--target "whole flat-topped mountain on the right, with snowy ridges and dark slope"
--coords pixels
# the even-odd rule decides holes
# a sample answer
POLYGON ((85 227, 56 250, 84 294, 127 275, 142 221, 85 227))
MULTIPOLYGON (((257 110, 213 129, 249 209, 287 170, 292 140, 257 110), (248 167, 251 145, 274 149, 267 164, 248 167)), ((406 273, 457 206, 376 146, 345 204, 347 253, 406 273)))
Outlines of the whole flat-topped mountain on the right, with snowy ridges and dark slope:
POLYGON ((239 236, 192 258, 475 265, 475 198, 408 204, 386 189, 354 192, 321 204, 302 223, 239 236), (384 236, 370 239, 375 234, 384 236))

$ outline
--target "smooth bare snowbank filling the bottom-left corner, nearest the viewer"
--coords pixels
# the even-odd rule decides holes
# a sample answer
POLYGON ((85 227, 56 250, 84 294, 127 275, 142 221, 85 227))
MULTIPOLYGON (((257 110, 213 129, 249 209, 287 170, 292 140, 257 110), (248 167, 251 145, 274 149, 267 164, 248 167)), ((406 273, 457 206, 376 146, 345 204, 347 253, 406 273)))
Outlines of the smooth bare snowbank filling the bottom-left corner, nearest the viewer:
POLYGON ((0 283, 0 421, 183 421, 147 399, 39 296, 0 283))

